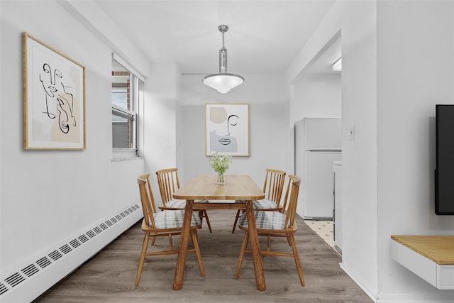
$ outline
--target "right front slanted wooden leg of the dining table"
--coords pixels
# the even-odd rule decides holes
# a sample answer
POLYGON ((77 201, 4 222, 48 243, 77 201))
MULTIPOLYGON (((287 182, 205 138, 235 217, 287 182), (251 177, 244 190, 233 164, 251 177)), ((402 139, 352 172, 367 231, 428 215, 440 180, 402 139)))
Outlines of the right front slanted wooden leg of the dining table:
POLYGON ((253 255, 255 284, 258 290, 266 290, 265 275, 263 275, 262 255, 260 255, 260 246, 258 243, 257 229, 255 228, 255 217, 252 201, 245 201, 246 214, 248 216, 248 230, 250 250, 253 255))

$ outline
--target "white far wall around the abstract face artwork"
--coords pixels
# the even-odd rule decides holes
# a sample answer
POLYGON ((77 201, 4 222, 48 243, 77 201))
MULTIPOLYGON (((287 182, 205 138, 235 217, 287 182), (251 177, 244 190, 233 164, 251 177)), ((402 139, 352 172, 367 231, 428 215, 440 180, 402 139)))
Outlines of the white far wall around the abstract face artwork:
MULTIPOLYGON (((205 155, 205 104, 249 104, 249 157, 234 157, 228 174, 251 175, 262 184, 265 168, 288 170, 286 153, 289 129, 289 92, 283 75, 242 75, 245 82, 227 94, 219 94, 201 82, 203 75, 183 75, 184 136, 177 143, 187 181, 194 175, 214 174, 205 155)), ((293 170, 293 167, 292 167, 293 170)), ((293 173, 293 172, 292 172, 293 173)))

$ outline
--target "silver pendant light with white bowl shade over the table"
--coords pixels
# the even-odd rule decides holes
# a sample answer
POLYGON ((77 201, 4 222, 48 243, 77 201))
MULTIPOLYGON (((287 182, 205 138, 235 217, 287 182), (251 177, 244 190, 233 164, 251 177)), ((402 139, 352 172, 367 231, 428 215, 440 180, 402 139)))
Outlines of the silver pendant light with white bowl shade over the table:
POLYGON ((226 94, 234 87, 244 82, 240 75, 229 74, 227 72, 227 49, 224 48, 224 33, 228 31, 228 26, 218 26, 218 31, 222 33, 222 48, 219 50, 219 73, 204 77, 205 85, 216 89, 221 94, 226 94))

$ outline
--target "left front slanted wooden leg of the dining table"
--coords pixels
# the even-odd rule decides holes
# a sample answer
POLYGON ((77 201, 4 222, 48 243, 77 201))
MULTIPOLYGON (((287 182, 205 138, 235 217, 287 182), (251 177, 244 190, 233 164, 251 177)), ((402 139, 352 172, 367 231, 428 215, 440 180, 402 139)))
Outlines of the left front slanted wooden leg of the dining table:
POLYGON ((181 290, 183 287, 184 266, 186 265, 187 255, 187 243, 189 241, 189 233, 191 230, 192 204, 194 204, 194 200, 187 200, 186 208, 184 209, 182 235, 179 238, 177 265, 175 267, 175 277, 173 278, 174 290, 181 290))

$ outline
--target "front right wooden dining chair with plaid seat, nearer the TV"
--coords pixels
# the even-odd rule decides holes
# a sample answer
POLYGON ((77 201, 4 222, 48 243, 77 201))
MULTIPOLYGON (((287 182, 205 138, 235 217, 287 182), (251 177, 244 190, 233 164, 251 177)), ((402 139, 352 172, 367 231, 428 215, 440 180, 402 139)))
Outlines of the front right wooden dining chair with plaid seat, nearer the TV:
MULTIPOLYGON (((304 286, 303 270, 299 261, 297 244, 295 243, 294 233, 297 232, 297 223, 295 221, 297 202, 299 194, 299 184, 301 180, 299 177, 289 175, 289 182, 287 192, 284 197, 283 211, 254 211, 255 225, 257 228, 258 236, 267 236, 267 250, 260 250, 261 255, 270 256, 285 256, 293 257, 299 275, 299 282, 304 286), (271 237, 285 237, 289 246, 292 247, 292 253, 272 251, 270 248, 271 237)), ((236 268, 235 279, 240 276, 241 265, 243 265, 243 258, 245 253, 250 253, 248 248, 249 232, 248 232, 248 217, 243 214, 240 217, 238 227, 245 231, 243 243, 241 245, 240 257, 238 258, 238 265, 236 268)))

